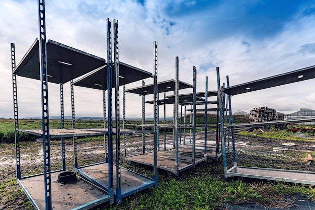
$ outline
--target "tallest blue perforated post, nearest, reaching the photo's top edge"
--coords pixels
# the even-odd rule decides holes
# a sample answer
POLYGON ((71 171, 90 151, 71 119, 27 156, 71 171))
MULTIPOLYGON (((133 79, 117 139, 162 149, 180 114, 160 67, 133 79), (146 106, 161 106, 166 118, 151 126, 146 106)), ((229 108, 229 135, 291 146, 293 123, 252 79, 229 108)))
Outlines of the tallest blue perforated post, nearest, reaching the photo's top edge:
POLYGON ((46 23, 45 1, 38 0, 39 21, 39 60, 40 79, 42 92, 42 130, 44 152, 44 184, 45 184, 45 208, 52 209, 51 201, 51 174, 50 174, 50 139, 49 139, 49 111, 48 111, 48 74, 47 74, 47 48, 46 48, 46 23))

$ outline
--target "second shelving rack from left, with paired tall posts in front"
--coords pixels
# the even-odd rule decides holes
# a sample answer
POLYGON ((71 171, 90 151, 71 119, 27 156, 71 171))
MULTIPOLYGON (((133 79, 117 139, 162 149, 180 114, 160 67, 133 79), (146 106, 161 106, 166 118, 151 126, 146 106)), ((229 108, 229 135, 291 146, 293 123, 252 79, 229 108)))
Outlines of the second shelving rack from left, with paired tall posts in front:
MULTIPOLYGON (((119 54, 118 54, 118 21, 114 20, 113 23, 113 38, 112 38, 112 21, 107 20, 107 84, 103 84, 102 86, 95 87, 93 85, 96 84, 95 74, 101 74, 100 71, 92 72, 90 75, 87 75, 83 79, 80 79, 74 82, 74 85, 79 85, 83 87, 89 88, 97 88, 103 89, 103 101, 105 107, 105 89, 107 90, 107 113, 108 113, 108 129, 106 132, 105 138, 105 148, 106 142, 108 142, 108 154, 106 153, 106 157, 108 157, 108 161, 105 158, 104 162, 96 163, 87 166, 77 166, 75 170, 80 173, 81 176, 88 179, 95 185, 109 192, 109 195, 114 195, 115 201, 117 203, 122 202, 122 198, 129 196, 135 192, 141 191, 151 186, 157 187, 157 173, 156 170, 153 170, 153 178, 149 178, 133 172, 131 170, 127 170, 121 167, 121 157, 120 157, 120 134, 129 134, 129 133, 144 133, 144 130, 128 130, 125 129, 125 93, 123 95, 123 129, 120 129, 120 79, 124 77, 120 74, 120 65, 131 67, 124 63, 119 63, 119 54), (114 43, 112 43, 112 40, 114 43), (114 47, 114 62, 112 61, 112 45, 114 47), (94 79, 93 79, 94 78, 94 79), (88 80, 88 81, 87 81, 88 80), (113 84, 114 83, 114 84, 113 84), (114 92, 113 90, 114 89, 114 92), (114 95, 114 96, 113 96, 114 95), (115 106, 113 107, 113 99, 115 106), (115 129, 113 128, 113 109, 115 109, 115 129), (116 141, 116 151, 113 150, 113 142, 114 135, 116 141), (113 154, 116 152, 116 163, 113 161, 113 154), (107 169, 108 168, 108 169, 107 169), (108 180, 104 174, 108 174, 108 180), (122 181, 123 180, 123 181, 122 181)), ((140 71, 133 67, 135 71, 139 72, 139 77, 142 77, 141 74, 144 71, 140 71)), ((100 70, 103 70, 102 67, 100 70)), ((122 72, 126 74, 126 72, 122 72)), ((145 77, 151 77, 150 73, 145 73, 145 77)), ((135 78, 135 77, 134 77, 135 78)), ((126 78, 128 79, 128 78, 126 78)), ((132 81, 131 81, 132 82, 132 81)), ((129 81, 130 83, 130 81, 129 81)), ((125 83, 123 84, 123 89, 125 89, 125 83)), ((106 118, 105 108, 104 108, 104 120, 106 118)), ((104 122, 105 123, 105 122, 104 122)), ((104 124, 105 126, 105 124, 104 124)), ((125 144, 125 139, 124 139, 125 144)), ((125 150, 125 149, 124 149, 125 150)))

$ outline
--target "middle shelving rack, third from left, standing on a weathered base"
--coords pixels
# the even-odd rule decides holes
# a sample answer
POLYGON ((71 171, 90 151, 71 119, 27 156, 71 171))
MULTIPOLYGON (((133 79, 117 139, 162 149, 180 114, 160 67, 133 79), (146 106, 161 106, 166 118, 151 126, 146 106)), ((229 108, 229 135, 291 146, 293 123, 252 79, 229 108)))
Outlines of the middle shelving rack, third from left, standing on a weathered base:
MULTIPOLYGON (((155 46, 155 45, 154 45, 155 46)), ((157 46, 156 46, 157 47, 157 46)), ((157 50, 157 49, 156 49, 157 50)), ((157 63, 157 56, 155 55, 156 50, 154 49, 154 60, 156 59, 156 62, 154 61, 154 63, 157 63)), ((193 120, 192 120, 192 125, 186 125, 186 126, 181 126, 179 124, 179 119, 178 119, 178 114, 179 114, 179 105, 183 102, 186 102, 189 98, 189 100, 191 100, 191 103, 193 105, 193 110, 196 109, 196 98, 198 98, 199 100, 202 100, 201 98, 196 96, 196 68, 194 67, 193 69, 193 94, 183 94, 183 95, 179 95, 179 89, 183 89, 183 88, 190 88, 191 86, 188 84, 185 84, 181 81, 179 81, 179 59, 178 57, 176 57, 176 62, 175 62, 175 68, 176 68, 176 74, 175 74, 175 81, 165 81, 165 82, 161 82, 161 83, 155 83, 156 85, 147 85, 144 86, 144 84, 142 84, 141 87, 139 88, 133 88, 133 89, 129 89, 127 90, 127 92, 131 92, 131 93, 136 93, 142 96, 142 109, 144 109, 145 106, 145 101, 144 101, 144 96, 148 95, 148 94, 152 94, 152 92, 150 91, 151 88, 153 89, 153 93, 166 93, 167 91, 174 91, 175 95, 173 97, 170 98, 166 98, 164 96, 164 99, 161 100, 157 100, 157 98, 155 96, 153 101, 147 101, 146 103, 151 103, 153 104, 154 107, 154 113, 157 112, 157 110, 159 109, 158 106, 159 105, 166 105, 166 104, 174 104, 174 124, 165 124, 165 119, 164 119, 164 123, 163 124, 157 124, 154 123, 155 120, 157 121, 157 113, 156 115, 154 115, 154 122, 153 125, 152 124, 146 124, 145 120, 144 120, 144 116, 142 116, 142 124, 141 126, 151 126, 153 127, 154 133, 156 132, 155 130, 157 130, 157 128, 173 128, 174 129, 174 147, 170 150, 166 150, 166 134, 164 134, 164 150, 157 151, 157 168, 159 169, 163 169, 165 171, 167 171, 169 174, 175 174, 175 175, 179 175, 180 172, 191 168, 191 167, 195 167, 196 163, 200 163, 206 160, 206 157, 202 156, 197 156, 195 154, 195 127, 196 127, 196 120, 195 120, 195 112, 193 112, 192 116, 193 116, 193 120), (165 85, 167 84, 167 85, 165 85), (171 84, 173 84, 174 86, 172 86, 171 84), (188 95, 188 96, 187 96, 188 95), (192 144, 192 149, 190 149, 189 152, 187 152, 187 150, 185 150, 185 152, 180 151, 179 148, 179 130, 183 129, 183 128, 190 128, 193 130, 193 144, 192 144), (187 160, 189 159, 189 160, 187 160), (163 165, 165 164, 165 165, 163 165)), ((156 66, 157 69, 157 66, 156 66)), ((157 74, 156 74, 157 75, 157 74)), ((166 94, 164 94, 166 95, 166 94)), ((189 102, 189 100, 187 102, 189 102)), ((164 107, 164 116, 165 116, 165 112, 166 112, 166 108, 164 107)), ((155 139, 155 136, 154 136, 155 139)), ((157 142, 157 141, 156 141, 157 142)), ((159 143, 157 143, 159 144, 159 143)), ((155 147, 155 143, 154 143, 154 147, 155 147)), ((142 151, 140 154, 132 154, 130 156, 126 156, 125 155, 125 160, 129 160, 132 162, 136 162, 136 163, 140 163, 140 164, 144 164, 144 165, 148 165, 148 166, 153 166, 155 165, 154 162, 152 162, 152 156, 151 156, 151 152, 146 151, 145 149, 145 142, 142 141, 142 151)), ((153 152, 155 151, 155 148, 153 148, 153 152)))

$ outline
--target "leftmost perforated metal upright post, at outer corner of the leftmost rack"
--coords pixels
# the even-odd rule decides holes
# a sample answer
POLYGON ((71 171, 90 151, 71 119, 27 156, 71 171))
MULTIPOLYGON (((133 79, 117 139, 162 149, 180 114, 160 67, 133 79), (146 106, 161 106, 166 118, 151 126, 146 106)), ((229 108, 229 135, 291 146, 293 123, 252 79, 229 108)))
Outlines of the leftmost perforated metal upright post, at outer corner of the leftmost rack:
MULTIPOLYGON (((11 43, 11 66, 12 72, 15 69, 15 45, 11 43)), ((17 164, 17 178, 21 179, 21 158, 20 158, 20 135, 17 129, 19 128, 19 114, 18 114, 18 89, 17 76, 12 74, 13 85, 13 108, 14 108, 14 136, 15 136, 15 157, 17 164)))

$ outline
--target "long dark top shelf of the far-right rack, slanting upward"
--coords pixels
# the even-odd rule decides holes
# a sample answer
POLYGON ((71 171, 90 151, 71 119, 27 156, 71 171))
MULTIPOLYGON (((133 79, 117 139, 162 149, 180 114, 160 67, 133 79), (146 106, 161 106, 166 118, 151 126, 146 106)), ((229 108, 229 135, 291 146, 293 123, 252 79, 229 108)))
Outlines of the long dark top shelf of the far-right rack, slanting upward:
POLYGON ((224 88, 232 96, 315 78, 315 65, 272 77, 224 88))

